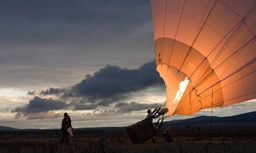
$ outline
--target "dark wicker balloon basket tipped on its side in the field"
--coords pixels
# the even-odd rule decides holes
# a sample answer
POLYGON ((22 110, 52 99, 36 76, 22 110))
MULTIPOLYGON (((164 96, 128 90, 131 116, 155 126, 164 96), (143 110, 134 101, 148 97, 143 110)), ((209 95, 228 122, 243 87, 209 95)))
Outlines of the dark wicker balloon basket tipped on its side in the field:
POLYGON ((143 143, 156 135, 155 126, 149 120, 142 120, 126 128, 133 143, 143 143))

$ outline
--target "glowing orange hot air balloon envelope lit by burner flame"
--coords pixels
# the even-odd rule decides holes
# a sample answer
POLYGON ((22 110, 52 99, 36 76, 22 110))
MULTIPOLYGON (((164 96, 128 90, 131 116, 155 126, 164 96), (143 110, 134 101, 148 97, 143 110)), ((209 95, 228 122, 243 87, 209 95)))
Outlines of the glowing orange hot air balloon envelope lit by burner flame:
POLYGON ((256 97, 255 0, 151 0, 167 116, 256 97))

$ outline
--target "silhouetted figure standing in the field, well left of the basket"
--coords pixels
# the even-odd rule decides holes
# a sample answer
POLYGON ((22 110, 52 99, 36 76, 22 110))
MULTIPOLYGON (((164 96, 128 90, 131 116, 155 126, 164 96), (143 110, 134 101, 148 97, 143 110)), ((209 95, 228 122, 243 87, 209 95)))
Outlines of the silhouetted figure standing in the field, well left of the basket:
POLYGON ((73 137, 71 128, 73 130, 71 125, 71 117, 68 115, 68 113, 64 113, 64 118, 61 122, 61 130, 63 131, 61 143, 63 143, 65 140, 65 143, 68 144, 69 139, 73 137))

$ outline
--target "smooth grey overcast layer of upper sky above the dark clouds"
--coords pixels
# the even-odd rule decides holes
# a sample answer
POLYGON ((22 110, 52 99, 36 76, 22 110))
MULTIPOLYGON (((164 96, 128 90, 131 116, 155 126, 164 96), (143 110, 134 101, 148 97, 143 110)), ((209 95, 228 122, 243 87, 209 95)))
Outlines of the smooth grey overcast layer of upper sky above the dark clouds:
POLYGON ((154 58, 148 0, 1 1, 0 19, 0 86, 70 86, 84 71, 154 58))

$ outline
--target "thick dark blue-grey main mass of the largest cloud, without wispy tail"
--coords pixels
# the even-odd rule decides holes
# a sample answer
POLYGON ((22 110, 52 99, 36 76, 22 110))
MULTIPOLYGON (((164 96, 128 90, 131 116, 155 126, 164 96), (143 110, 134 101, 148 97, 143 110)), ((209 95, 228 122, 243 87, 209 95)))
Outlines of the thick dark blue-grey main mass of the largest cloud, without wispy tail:
POLYGON ((155 62, 148 62, 139 69, 122 69, 118 66, 108 65, 93 76, 86 76, 73 91, 85 96, 99 105, 108 105, 117 102, 130 94, 130 92, 143 90, 155 84, 155 62))

